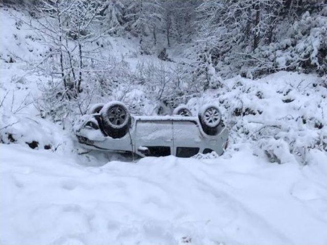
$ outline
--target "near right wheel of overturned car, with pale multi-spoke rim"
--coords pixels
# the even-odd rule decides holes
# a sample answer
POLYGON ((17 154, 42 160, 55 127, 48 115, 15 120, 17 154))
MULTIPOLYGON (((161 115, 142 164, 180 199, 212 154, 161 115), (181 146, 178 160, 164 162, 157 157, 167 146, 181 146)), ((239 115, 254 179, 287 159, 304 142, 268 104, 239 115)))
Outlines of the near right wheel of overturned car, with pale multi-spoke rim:
POLYGON ((203 106, 199 111, 199 120, 204 133, 216 135, 221 123, 221 113, 218 106, 214 104, 203 106))

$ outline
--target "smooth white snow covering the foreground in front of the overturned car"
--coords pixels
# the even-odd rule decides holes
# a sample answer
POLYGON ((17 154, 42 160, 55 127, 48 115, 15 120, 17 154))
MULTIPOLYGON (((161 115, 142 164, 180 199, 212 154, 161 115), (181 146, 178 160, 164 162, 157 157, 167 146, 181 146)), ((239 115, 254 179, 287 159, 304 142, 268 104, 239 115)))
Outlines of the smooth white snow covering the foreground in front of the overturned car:
POLYGON ((0 153, 0 244, 327 243, 320 151, 306 166, 271 164, 247 144, 93 167, 18 144, 0 153))

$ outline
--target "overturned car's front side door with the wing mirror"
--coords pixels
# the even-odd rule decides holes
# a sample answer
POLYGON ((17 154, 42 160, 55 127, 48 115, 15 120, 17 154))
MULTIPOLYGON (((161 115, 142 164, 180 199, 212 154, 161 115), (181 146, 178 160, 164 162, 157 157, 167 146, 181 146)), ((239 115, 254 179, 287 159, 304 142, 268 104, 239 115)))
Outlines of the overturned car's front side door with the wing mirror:
POLYGON ((164 120, 138 120, 135 130, 135 150, 146 156, 173 154, 173 124, 164 120), (147 153, 141 149, 148 149, 147 153))

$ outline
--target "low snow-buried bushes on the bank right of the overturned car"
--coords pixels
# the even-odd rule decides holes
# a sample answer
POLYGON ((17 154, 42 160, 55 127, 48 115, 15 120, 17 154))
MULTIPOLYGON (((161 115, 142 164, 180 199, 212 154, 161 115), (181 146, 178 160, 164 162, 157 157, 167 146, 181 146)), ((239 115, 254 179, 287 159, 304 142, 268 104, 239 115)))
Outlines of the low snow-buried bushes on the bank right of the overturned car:
POLYGON ((327 151, 327 88, 322 79, 277 72, 260 80, 235 77, 188 102, 196 114, 217 102, 232 143, 251 142, 254 154, 284 163, 307 163, 312 149, 327 151))

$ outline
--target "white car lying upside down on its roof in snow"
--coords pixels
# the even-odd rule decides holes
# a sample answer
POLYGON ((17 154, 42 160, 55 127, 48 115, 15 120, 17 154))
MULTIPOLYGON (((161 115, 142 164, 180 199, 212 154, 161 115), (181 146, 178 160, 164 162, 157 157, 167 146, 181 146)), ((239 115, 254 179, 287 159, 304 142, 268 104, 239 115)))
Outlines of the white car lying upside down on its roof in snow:
POLYGON ((121 102, 97 104, 80 118, 75 132, 79 142, 91 150, 132 152, 141 157, 223 154, 228 130, 216 106, 205 106, 198 116, 179 106, 173 114, 131 115, 121 102))

